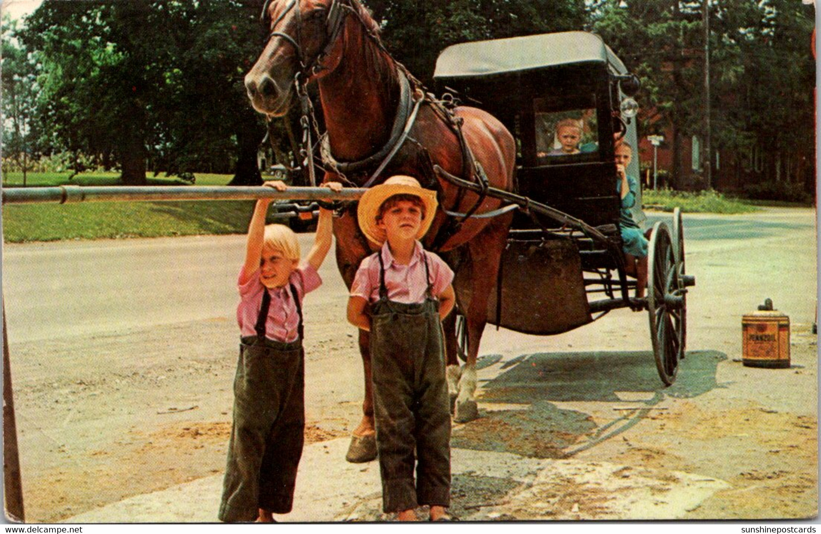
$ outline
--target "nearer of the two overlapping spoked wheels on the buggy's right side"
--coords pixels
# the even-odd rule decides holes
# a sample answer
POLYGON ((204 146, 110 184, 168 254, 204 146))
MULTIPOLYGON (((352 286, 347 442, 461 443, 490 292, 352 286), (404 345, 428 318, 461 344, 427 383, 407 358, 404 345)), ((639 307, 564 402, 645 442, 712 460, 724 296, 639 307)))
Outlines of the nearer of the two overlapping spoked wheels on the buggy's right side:
POLYGON ((684 352, 685 288, 678 276, 676 255, 670 230, 658 221, 648 249, 647 311, 658 376, 667 386, 676 381, 678 360, 684 352))

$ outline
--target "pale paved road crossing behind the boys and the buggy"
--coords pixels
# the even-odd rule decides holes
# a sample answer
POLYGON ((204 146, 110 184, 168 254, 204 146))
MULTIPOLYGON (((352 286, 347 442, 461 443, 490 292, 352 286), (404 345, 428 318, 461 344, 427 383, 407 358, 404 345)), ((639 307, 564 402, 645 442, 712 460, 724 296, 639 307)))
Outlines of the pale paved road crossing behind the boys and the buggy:
MULTIPOLYGON (((651 215, 649 222, 658 219, 664 216, 651 215)), ((699 284, 690 299, 695 309, 716 292, 741 313, 769 296, 794 321, 813 320, 814 302, 807 298, 814 294, 815 272, 810 210, 688 215, 685 233, 688 271, 699 284), (787 273, 791 276, 785 278, 787 273), (735 287, 736 281, 741 286, 731 291, 727 285, 735 287)), ((310 246, 311 235, 300 238, 303 248, 310 246)), ((67 331, 90 335, 230 317, 243 247, 242 235, 6 244, 2 274, 9 335, 22 342, 67 331)), ((322 274, 326 285, 314 303, 319 305, 344 293, 333 253, 322 274)), ((694 336, 697 340, 695 331, 694 336)))

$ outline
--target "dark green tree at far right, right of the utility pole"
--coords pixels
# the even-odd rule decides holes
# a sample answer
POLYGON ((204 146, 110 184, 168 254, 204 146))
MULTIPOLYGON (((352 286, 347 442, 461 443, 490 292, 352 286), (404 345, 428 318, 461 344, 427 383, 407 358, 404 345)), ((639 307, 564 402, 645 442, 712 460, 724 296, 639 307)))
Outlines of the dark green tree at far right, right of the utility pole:
POLYGON ((714 18, 718 143, 762 155, 760 171, 751 169, 746 179, 814 192, 814 7, 724 0, 714 18))

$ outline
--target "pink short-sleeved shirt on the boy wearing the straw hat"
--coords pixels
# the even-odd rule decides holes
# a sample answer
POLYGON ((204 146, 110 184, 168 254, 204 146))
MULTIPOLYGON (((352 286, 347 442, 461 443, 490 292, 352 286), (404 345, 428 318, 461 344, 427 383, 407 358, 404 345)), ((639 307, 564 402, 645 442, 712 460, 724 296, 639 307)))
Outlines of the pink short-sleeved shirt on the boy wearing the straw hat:
POLYGON ((377 255, 379 253, 382 254, 385 265, 385 287, 388 289, 388 299, 395 302, 404 304, 424 302, 428 281, 424 276, 422 254, 428 257, 430 282, 433 283, 431 293, 434 298, 442 294, 453 281, 453 271, 447 267, 447 263, 436 254, 422 249, 419 241, 416 241, 413 255, 407 265, 400 265, 394 261, 386 242, 382 250, 362 260, 354 277, 354 283, 351 285, 352 297, 362 297, 372 303, 379 299, 379 258, 377 255))

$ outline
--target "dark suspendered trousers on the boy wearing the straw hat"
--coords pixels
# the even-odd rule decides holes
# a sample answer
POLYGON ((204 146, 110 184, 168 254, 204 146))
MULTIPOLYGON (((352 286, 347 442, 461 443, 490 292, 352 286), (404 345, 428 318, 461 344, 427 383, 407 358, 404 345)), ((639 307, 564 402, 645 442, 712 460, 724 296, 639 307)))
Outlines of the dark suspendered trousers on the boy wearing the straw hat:
POLYGON ((428 258, 423 252, 428 289, 420 304, 388 299, 382 253, 378 258, 379 300, 370 308, 370 357, 383 510, 448 506, 451 414, 439 303, 431 294, 428 258))

